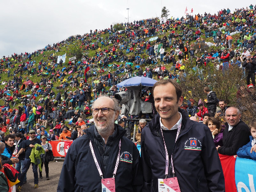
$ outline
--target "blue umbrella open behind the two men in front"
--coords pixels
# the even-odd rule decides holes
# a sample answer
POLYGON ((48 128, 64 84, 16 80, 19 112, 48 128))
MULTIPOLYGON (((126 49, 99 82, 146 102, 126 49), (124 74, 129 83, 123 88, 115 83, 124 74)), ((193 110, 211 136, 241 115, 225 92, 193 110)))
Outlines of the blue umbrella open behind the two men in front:
POLYGON ((132 86, 153 87, 156 82, 157 81, 155 79, 139 76, 139 77, 133 77, 133 78, 130 78, 130 79, 126 79, 126 80, 118 83, 117 87, 118 88, 132 87, 132 86))

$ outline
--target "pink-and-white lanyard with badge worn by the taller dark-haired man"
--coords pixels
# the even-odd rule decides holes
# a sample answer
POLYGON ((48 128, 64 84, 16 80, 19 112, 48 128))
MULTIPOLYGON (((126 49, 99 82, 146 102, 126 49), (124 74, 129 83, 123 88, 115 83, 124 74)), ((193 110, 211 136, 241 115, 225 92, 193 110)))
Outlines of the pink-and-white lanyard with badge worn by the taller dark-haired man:
MULTIPOLYGON (((180 133, 180 128, 181 124, 178 127, 178 132, 176 136, 176 140, 178 139, 179 133, 180 133)), ((163 131, 161 129, 162 136, 163 136, 163 131)), ((164 148, 165 148, 165 179, 158 179, 158 192, 180 192, 180 186, 177 177, 173 178, 167 178, 168 176, 168 167, 169 167, 169 155, 167 152, 166 144, 164 141, 163 137, 163 143, 164 143, 164 148)), ((172 168, 173 168, 173 175, 175 174, 174 172, 174 164, 173 164, 173 155, 170 158, 170 162, 172 163, 172 168)))

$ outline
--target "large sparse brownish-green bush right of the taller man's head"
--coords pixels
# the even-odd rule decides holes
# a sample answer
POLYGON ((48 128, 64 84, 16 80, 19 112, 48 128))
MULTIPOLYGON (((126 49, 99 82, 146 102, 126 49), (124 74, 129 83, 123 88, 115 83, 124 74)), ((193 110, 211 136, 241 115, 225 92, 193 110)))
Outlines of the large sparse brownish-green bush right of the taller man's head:
MULTIPOLYGON (((193 66, 186 66, 186 76, 180 76, 183 97, 193 98, 196 102, 199 99, 206 99, 204 87, 209 87, 216 92, 218 99, 224 99, 229 106, 236 106, 243 117, 243 121, 248 123, 256 116, 256 92, 250 93, 246 90, 245 78, 242 69, 238 66, 230 66, 228 70, 218 70, 212 63, 202 69, 193 70, 193 66), (238 90, 243 88, 240 97, 237 97, 238 90)), ((205 103, 205 105, 207 105, 205 103)))

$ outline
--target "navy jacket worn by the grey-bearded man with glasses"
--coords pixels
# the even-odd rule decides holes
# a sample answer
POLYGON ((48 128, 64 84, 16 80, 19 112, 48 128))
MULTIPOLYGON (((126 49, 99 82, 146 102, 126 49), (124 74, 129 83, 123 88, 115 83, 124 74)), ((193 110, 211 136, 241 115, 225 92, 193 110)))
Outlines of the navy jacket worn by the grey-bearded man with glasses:
POLYGON ((94 129, 94 125, 89 127, 86 130, 86 135, 77 138, 70 146, 63 163, 57 191, 101 192, 101 177, 95 165, 89 143, 90 141, 92 142, 95 156, 103 173, 103 178, 112 178, 119 152, 120 139, 120 161, 115 177, 116 191, 141 191, 143 179, 139 151, 131 140, 123 137, 125 130, 120 125, 115 125, 117 136, 114 141, 111 141, 112 146, 109 160, 106 169, 104 169, 99 148, 95 143, 95 139, 97 138, 95 137, 94 129), (126 160, 124 156, 128 159, 126 160))

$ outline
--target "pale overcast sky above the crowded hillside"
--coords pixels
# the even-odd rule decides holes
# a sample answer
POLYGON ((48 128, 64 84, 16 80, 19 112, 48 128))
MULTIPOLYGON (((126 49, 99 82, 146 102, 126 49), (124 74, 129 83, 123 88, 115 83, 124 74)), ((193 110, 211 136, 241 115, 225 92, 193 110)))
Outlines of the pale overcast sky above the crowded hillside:
POLYGON ((127 22, 126 8, 130 8, 129 21, 133 21, 160 16, 163 6, 170 11, 170 16, 181 17, 186 7, 188 13, 193 8, 196 14, 213 14, 223 8, 233 11, 235 8, 249 7, 250 3, 241 0, 233 0, 232 3, 222 0, 0 1, 0 57, 32 52, 71 35, 127 22))

